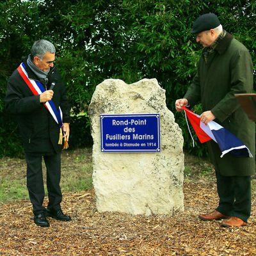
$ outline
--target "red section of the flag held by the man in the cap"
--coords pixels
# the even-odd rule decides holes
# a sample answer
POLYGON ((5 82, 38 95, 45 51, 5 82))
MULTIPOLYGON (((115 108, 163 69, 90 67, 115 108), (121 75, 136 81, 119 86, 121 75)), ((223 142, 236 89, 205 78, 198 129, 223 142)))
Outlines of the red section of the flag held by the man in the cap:
POLYGON ((188 120, 190 124, 192 125, 193 129, 195 130, 196 136, 198 137, 199 141, 201 143, 207 142, 209 140, 212 140, 212 138, 207 135, 200 127, 200 118, 195 115, 192 111, 187 109, 186 107, 182 106, 184 111, 186 111, 186 115, 188 116, 188 120))

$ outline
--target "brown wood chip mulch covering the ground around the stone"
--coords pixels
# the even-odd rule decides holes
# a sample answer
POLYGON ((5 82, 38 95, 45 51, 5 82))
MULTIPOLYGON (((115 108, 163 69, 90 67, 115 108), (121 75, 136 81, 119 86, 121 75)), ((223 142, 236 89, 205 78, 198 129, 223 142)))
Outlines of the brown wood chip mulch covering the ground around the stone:
POLYGON ((218 202, 214 182, 184 182, 184 212, 173 216, 132 216, 97 212, 93 190, 65 193, 62 208, 72 216, 37 227, 31 204, 0 205, 0 255, 256 255, 256 205, 248 226, 220 227, 200 221, 218 202))

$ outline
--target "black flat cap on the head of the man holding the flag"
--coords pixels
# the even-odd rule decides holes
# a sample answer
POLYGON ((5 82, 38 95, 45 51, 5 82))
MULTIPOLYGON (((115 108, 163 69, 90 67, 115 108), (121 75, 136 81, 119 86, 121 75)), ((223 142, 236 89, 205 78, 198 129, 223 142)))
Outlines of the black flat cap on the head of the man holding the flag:
POLYGON ((217 28, 218 26, 220 26, 220 20, 218 17, 214 13, 206 13, 195 20, 191 32, 193 34, 198 34, 202 31, 217 28))

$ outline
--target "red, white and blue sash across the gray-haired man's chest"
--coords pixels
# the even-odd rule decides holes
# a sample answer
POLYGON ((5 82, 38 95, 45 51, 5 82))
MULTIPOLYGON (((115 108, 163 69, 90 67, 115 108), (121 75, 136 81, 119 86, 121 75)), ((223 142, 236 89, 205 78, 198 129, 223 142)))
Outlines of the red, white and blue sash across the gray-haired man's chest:
MULTIPOLYGON (((28 85, 29 89, 33 93, 33 95, 40 95, 41 93, 45 92, 44 85, 40 83, 39 81, 36 81, 34 79, 30 79, 28 77, 28 73, 26 72, 26 66, 22 62, 19 67, 17 68, 20 76, 24 80, 24 82, 28 85)), ((62 122, 62 111, 61 108, 56 108, 54 105, 54 102, 52 100, 49 100, 44 103, 45 108, 48 109, 48 111, 51 113, 52 117, 56 121, 56 123, 60 126, 60 128, 63 126, 62 122)))

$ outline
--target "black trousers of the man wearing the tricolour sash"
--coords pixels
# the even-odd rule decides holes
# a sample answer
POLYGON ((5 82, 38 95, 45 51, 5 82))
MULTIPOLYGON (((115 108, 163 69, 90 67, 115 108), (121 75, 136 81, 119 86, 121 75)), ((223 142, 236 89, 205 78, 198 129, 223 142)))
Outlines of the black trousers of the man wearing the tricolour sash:
POLYGON ((42 173, 42 157, 47 170, 47 191, 49 204, 48 209, 60 209, 62 194, 60 189, 61 175, 61 154, 51 156, 36 156, 26 154, 27 163, 27 188, 29 198, 33 205, 33 213, 39 214, 45 211, 44 202, 44 181, 42 173))

